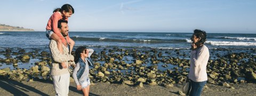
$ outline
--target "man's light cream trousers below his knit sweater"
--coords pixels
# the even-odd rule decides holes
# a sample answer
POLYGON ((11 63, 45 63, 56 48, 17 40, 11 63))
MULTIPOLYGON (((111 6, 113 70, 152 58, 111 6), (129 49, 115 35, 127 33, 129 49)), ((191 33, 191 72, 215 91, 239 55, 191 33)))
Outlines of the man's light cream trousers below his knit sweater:
POLYGON ((70 83, 70 74, 63 74, 53 76, 53 86, 56 92, 56 95, 68 95, 69 92, 69 83, 70 83))

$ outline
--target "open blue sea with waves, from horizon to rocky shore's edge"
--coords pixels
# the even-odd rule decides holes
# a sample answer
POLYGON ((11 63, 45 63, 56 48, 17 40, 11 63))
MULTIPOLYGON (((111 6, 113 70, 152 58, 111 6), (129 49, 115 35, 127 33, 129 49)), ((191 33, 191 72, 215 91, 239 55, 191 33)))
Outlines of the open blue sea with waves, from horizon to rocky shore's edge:
MULTIPOLYGON (((131 32, 69 32, 76 46, 151 47, 157 49, 190 49, 191 33, 131 33, 131 32)), ((21 47, 44 49, 49 44, 44 31, 0 32, 0 49, 21 47)), ((210 49, 255 49, 256 34, 207 33, 205 43, 210 49)))

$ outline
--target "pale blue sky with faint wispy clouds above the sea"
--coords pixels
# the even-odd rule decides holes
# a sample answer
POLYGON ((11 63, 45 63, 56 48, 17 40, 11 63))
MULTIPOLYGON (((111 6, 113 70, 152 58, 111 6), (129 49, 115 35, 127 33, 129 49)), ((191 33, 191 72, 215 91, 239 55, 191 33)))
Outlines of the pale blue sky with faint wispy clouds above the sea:
POLYGON ((256 33, 255 0, 1 0, 0 23, 45 31, 63 4, 69 31, 256 33))

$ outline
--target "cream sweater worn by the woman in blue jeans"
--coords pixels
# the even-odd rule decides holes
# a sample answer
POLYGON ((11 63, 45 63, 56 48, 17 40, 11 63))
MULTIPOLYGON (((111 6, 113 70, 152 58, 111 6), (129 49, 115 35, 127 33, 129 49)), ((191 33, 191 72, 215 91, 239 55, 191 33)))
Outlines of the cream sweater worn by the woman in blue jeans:
POLYGON ((205 45, 191 51, 189 79, 194 82, 207 81, 206 66, 209 57, 209 49, 205 45))

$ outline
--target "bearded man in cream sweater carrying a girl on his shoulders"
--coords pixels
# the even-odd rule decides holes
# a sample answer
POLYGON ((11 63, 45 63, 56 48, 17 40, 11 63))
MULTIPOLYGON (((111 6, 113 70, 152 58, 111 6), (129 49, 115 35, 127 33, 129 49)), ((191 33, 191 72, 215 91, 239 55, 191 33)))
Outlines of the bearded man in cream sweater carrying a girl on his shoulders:
MULTIPOLYGON (((63 37, 68 36, 68 21, 59 20, 58 28, 63 37)), ((50 41, 49 47, 53 60, 51 65, 51 76, 55 92, 57 93, 56 95, 68 95, 70 82, 69 63, 74 63, 74 57, 70 54, 69 47, 64 44, 62 44, 63 54, 60 53, 57 47, 57 42, 53 39, 50 41)))

